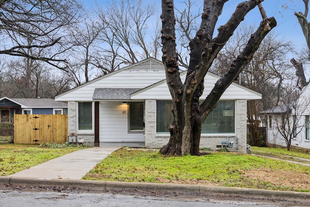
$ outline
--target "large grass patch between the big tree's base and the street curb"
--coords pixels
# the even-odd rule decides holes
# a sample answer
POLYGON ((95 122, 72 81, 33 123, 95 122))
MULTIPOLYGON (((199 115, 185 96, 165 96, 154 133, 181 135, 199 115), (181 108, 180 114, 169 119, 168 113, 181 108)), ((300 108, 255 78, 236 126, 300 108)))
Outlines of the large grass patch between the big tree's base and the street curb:
POLYGON ((309 187, 289 184, 289 179, 279 183, 269 180, 272 176, 284 176, 284 172, 292 178, 300 175, 310 178, 309 167, 253 155, 216 152, 199 157, 165 157, 157 151, 123 148, 102 160, 84 179, 310 191, 309 187), (264 172, 270 172, 265 179, 259 177, 264 172), (258 178, 251 176, 254 174, 258 178))

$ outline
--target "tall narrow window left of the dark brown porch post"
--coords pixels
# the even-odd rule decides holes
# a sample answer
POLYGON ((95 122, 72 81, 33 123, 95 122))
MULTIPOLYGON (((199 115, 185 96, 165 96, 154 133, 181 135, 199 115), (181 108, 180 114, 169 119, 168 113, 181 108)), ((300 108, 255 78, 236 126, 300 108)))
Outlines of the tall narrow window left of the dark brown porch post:
POLYGON ((78 102, 78 130, 93 130, 92 102, 78 102))

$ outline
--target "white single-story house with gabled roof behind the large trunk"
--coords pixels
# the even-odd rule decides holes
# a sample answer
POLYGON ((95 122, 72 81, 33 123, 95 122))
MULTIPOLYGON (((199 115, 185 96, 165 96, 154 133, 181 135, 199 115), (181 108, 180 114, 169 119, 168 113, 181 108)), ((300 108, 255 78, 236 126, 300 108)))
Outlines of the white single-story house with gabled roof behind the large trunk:
MULTIPOLYGON (((186 71, 181 74, 184 80, 186 71)), ((73 88, 55 97, 68 102, 68 134, 94 146, 162 147, 169 141, 172 122, 171 95, 162 62, 149 58, 73 88)), ((219 79, 208 73, 206 97, 219 79)), ((261 94, 233 83, 202 127, 201 147, 246 153, 247 100, 261 94)))

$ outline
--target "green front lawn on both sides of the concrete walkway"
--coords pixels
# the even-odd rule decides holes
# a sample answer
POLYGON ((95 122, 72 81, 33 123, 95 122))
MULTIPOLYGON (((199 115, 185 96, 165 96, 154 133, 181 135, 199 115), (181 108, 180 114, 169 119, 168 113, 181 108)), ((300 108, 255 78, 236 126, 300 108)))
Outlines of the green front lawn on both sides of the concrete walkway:
MULTIPOLYGON (((0 144, 0 175, 12 175, 83 147, 57 143, 41 146, 0 144)), ((310 158, 306 152, 295 149, 288 152, 285 149, 252 147, 252 151, 285 159, 310 158)), ((228 152, 166 157, 155 150, 122 148, 102 160, 84 179, 310 192, 308 166, 228 152)))

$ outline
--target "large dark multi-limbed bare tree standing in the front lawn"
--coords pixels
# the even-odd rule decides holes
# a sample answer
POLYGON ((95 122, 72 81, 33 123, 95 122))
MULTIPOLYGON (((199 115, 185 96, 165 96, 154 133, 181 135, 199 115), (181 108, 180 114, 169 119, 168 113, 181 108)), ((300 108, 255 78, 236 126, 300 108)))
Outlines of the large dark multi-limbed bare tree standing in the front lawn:
POLYGON ((261 8, 263 21, 259 28, 249 37, 247 45, 239 56, 227 65, 227 73, 217 81, 210 95, 200 105, 199 98, 203 91, 204 77, 218 52, 233 35, 233 31, 246 14, 262 2, 262 0, 249 0, 240 3, 228 22, 218 28, 218 34, 213 38, 217 18, 227 1, 204 1, 200 29, 189 43, 190 62, 186 80, 183 83, 176 52, 174 3, 173 0, 162 0, 162 60, 166 68, 173 106, 173 122, 169 126, 171 137, 169 143, 161 148, 162 154, 179 156, 187 153, 199 154, 203 120, 214 109, 227 87, 252 59, 265 35, 277 24, 273 17, 267 18, 261 8))

